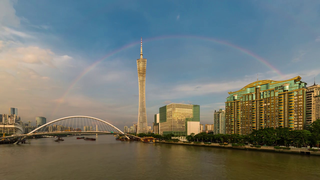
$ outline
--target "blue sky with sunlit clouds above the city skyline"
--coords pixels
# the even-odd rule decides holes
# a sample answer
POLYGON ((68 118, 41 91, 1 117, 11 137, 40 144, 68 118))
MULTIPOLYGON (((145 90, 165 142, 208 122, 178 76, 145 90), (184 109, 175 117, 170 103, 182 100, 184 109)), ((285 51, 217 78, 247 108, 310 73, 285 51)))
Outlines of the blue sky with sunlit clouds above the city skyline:
POLYGON ((257 74, 320 84, 319 13, 317 0, 1 0, 0 113, 136 124, 142 37, 148 125, 172 102, 213 124, 257 74))

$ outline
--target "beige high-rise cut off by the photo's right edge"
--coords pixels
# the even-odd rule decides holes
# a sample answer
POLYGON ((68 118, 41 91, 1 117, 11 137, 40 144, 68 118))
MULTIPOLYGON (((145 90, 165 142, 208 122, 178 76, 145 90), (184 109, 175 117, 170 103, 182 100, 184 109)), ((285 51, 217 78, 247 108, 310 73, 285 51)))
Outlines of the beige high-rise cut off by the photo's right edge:
MULTIPOLYGON (((306 92, 306 128, 310 127, 311 123, 320 119, 320 85, 315 84, 309 86, 306 92)), ((295 113, 300 113, 295 112, 295 113)))

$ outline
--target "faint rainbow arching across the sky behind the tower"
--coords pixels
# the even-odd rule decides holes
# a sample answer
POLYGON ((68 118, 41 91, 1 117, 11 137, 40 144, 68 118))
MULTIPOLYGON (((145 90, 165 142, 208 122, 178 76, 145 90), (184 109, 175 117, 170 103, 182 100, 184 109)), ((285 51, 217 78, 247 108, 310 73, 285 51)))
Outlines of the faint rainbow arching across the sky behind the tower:
MULTIPOLYGON (((274 71, 278 76, 283 77, 283 75, 281 74, 281 72, 279 70, 277 70, 275 67, 273 67, 268 61, 264 60, 263 58, 261 58, 260 56, 250 52, 247 49, 244 49, 242 47, 233 45, 231 43, 228 43, 226 41, 222 41, 222 40, 217 40, 214 38, 208 38, 208 37, 200 37, 200 36, 159 36, 159 37, 152 37, 152 38, 148 38, 148 39, 144 39, 144 42, 150 42, 150 41, 156 41, 156 40, 162 40, 162 39, 174 39, 174 38, 183 38, 183 39, 200 39, 200 40, 204 40, 204 41, 210 41, 210 42, 214 42, 220 45, 225 45, 228 46, 232 49, 238 50, 241 53, 244 53, 248 56, 251 56, 253 59, 261 62, 262 64, 266 65, 269 69, 271 69, 272 71, 274 71)), ((95 61, 92 65, 90 65, 87 69, 85 69, 81 74, 79 74, 79 76, 76 77, 76 79, 71 83, 71 85, 68 87, 68 89, 66 90, 66 92, 62 95, 62 97, 59 99, 60 102, 63 102, 64 99, 66 98, 66 96, 69 94, 70 90, 74 88, 74 86, 77 84, 77 82, 79 82, 79 80, 81 78, 83 78, 88 72, 90 72, 91 70, 93 70, 100 62, 102 62, 103 60, 115 55, 116 53, 119 53, 121 51, 124 51, 128 48, 131 48, 133 46, 139 45, 140 41, 135 41, 131 44, 125 45, 117 50, 114 50, 110 53, 108 53, 107 55, 103 56, 100 60, 95 61)), ((60 103, 58 102, 57 107, 53 110, 52 115, 55 114, 55 112, 59 109, 60 107, 60 103)))

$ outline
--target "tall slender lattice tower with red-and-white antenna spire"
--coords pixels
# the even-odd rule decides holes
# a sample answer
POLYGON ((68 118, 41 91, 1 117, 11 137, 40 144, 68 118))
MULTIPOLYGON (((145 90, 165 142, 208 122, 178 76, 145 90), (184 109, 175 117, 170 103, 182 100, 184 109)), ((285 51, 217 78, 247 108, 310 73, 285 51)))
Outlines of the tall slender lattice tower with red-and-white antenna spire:
POLYGON ((147 111, 146 111, 146 67, 147 59, 142 58, 142 37, 140 59, 137 59, 138 80, 139 80, 139 112, 137 134, 148 133, 147 111))

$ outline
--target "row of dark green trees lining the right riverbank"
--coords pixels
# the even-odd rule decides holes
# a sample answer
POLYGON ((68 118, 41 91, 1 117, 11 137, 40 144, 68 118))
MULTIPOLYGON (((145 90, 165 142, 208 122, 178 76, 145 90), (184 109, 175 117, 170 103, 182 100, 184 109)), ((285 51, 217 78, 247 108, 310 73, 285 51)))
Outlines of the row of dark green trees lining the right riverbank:
MULTIPOLYGON (((158 135, 158 134, 138 134, 139 137, 152 136, 161 140, 170 140, 173 134, 158 135)), ((217 134, 212 132, 199 133, 195 135, 191 133, 186 137, 188 141, 196 142, 215 142, 215 143, 252 143, 252 144, 266 144, 266 145, 293 145, 295 147, 320 145, 320 119, 314 121, 308 130, 293 130, 289 128, 263 128, 254 130, 250 135, 237 134, 217 134)))

